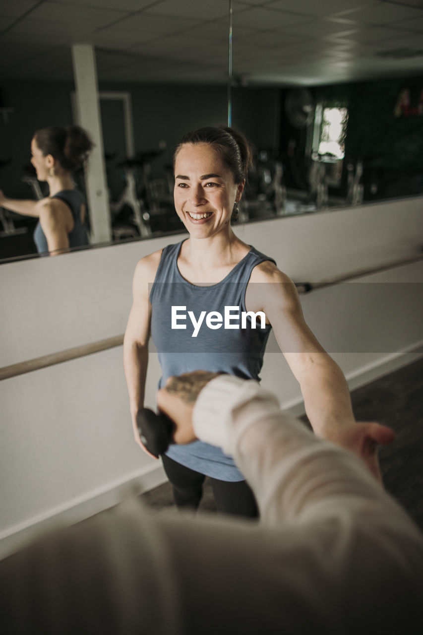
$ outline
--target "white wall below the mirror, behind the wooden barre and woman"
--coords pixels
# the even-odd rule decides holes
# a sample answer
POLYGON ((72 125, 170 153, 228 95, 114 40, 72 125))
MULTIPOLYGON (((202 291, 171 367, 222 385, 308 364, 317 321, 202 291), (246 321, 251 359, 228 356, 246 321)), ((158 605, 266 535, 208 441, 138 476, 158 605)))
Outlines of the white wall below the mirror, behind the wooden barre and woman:
MULTIPOLYGON (((236 231, 295 281, 321 281, 419 255, 422 203, 417 197, 236 231)), ((138 258, 181 238, 1 265, 0 366, 123 333, 138 258)), ((421 262, 408 264, 366 277, 366 284, 302 297, 307 321, 351 386, 420 354, 422 272, 421 262)), ((300 401, 298 385, 273 351, 270 342, 264 384, 292 406, 300 401)), ((114 504, 128 488, 163 481, 158 463, 133 442, 121 358, 117 347, 0 382, 0 553, 51 519, 79 520, 114 504)), ((152 355, 151 406, 158 377, 152 355)))

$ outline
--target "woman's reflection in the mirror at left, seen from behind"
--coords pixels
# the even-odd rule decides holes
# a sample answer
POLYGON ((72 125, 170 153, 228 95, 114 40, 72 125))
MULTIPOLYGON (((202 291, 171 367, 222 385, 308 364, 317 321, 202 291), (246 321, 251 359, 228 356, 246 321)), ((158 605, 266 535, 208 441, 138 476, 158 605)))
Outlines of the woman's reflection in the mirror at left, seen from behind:
POLYGON ((1 207, 39 219, 34 231, 38 253, 57 255, 88 244, 86 204, 72 173, 92 147, 88 133, 79 126, 38 130, 31 142, 31 163, 37 179, 48 183, 49 195, 39 201, 9 199, 0 190, 1 207))

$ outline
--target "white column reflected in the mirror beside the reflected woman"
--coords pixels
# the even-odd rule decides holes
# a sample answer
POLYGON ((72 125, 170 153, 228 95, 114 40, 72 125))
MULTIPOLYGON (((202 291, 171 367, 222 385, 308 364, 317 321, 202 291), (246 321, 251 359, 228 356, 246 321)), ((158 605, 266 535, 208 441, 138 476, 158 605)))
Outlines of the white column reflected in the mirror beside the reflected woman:
POLYGON ((90 133, 95 144, 85 174, 91 243, 105 243, 111 241, 112 231, 94 47, 91 44, 72 44, 72 61, 78 122, 90 133))

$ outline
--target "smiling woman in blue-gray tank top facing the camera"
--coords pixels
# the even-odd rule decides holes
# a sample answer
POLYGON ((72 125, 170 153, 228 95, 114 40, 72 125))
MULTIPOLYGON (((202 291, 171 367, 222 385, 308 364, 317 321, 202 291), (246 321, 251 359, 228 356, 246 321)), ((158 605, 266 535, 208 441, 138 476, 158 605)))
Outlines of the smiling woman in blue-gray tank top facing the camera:
MULTIPOLYGON (((383 441, 380 428, 356 424, 346 379, 305 323, 295 285, 272 258, 241 241, 232 230, 231 218, 243 194, 249 161, 245 137, 231 128, 201 128, 185 135, 177 147, 175 209, 189 238, 138 262, 124 337, 135 440, 145 450, 136 416, 144 405, 150 335, 163 372, 160 386, 171 375, 193 370, 258 380, 272 327, 299 381, 314 432, 351 448, 380 478, 375 450, 383 441), (227 331, 215 320, 209 328, 203 324, 198 337, 192 338, 187 316, 180 321, 180 330, 171 330, 172 307, 182 314, 191 309, 199 319, 201 312, 223 315, 226 305, 264 312, 265 328, 254 328, 250 322, 244 331, 227 331)), ((171 445, 162 459, 178 507, 198 507, 208 476, 219 511, 257 514, 243 475, 219 448, 201 441, 171 445)))

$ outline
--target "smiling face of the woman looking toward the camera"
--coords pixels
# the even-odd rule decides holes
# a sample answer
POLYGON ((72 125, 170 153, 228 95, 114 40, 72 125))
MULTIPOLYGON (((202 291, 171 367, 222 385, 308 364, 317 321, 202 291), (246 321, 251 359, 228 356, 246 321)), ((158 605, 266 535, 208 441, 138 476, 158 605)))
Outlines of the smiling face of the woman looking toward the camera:
POLYGON ((244 183, 209 144, 182 145, 175 159, 175 209, 193 237, 207 238, 229 228, 244 183))

